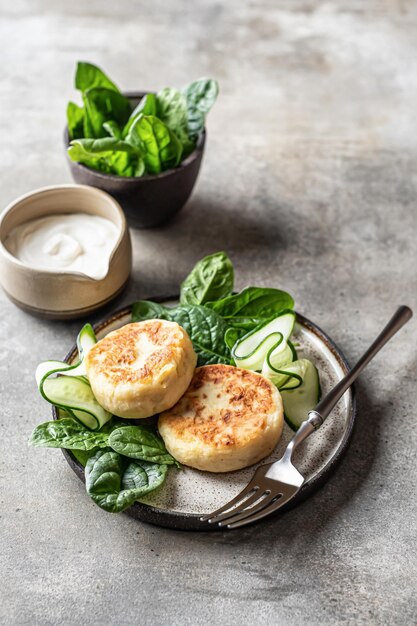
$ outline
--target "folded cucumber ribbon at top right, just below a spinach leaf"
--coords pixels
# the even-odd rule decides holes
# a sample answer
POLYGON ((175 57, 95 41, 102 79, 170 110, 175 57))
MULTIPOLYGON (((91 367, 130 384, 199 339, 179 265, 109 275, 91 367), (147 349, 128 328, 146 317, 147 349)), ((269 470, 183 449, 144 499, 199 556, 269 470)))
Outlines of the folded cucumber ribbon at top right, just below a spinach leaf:
MULTIPOLYGON (((260 371, 268 354, 276 350, 278 355, 281 350, 288 347, 287 341, 294 323, 294 311, 284 311, 273 320, 265 322, 238 339, 232 349, 232 357, 236 365, 244 369, 260 371), (282 345, 283 342, 284 345, 282 345)), ((288 360, 292 360, 290 348, 288 360)))

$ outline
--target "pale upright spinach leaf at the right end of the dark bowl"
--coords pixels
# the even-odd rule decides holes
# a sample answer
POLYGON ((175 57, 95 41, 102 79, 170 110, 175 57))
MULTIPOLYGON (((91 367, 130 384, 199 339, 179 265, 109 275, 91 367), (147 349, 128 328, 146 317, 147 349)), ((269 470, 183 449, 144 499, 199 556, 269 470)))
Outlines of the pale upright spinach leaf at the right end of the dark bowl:
POLYGON ((210 78, 200 78, 184 89, 188 109, 188 130, 190 139, 195 141, 204 129, 205 117, 216 101, 219 84, 210 78))

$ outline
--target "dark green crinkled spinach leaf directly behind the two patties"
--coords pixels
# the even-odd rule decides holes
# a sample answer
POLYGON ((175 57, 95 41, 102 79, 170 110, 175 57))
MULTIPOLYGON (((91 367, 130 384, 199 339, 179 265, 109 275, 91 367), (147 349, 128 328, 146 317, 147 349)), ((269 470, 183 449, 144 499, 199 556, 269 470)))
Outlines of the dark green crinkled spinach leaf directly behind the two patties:
POLYGON ((227 324, 215 311, 198 305, 168 308, 147 300, 135 302, 132 321, 145 319, 171 320, 182 326, 193 343, 198 365, 230 363, 230 352, 224 342, 227 324))

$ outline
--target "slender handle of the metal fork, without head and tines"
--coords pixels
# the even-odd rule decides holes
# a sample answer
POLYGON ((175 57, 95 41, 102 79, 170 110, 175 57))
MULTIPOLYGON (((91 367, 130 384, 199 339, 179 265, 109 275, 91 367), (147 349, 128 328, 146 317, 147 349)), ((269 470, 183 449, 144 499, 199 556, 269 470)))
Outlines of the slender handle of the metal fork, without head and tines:
POLYGON ((383 331, 378 335, 375 341, 369 346, 365 354, 359 359, 354 367, 346 374, 341 381, 333 387, 333 389, 325 396, 313 411, 310 411, 308 418, 301 424, 300 428, 291 439, 284 452, 284 458, 291 460, 294 450, 300 445, 304 439, 307 439, 315 430, 320 428, 324 420, 336 404, 339 402, 343 394, 349 389, 352 383, 357 379, 359 374, 368 365, 381 348, 397 333, 400 328, 408 322, 413 312, 408 306, 400 306, 394 313, 383 331))

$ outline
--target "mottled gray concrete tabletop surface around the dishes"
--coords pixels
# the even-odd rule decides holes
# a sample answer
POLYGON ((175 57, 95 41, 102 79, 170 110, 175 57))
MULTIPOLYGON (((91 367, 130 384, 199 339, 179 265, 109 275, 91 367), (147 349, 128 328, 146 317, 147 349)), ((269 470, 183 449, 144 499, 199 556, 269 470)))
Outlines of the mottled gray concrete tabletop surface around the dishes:
MULTIPOLYGON (((0 14, 1 206, 70 180, 77 59, 125 89, 220 81, 198 188, 170 224, 133 233, 114 307, 175 291, 217 249, 239 287, 290 290, 352 361, 397 304, 416 307, 415 3, 14 0, 0 14)), ((320 492, 192 534, 103 513, 59 451, 27 447, 49 416, 34 368, 79 325, 0 307, 2 623, 416 622, 415 321, 362 378, 351 447, 320 492)))

